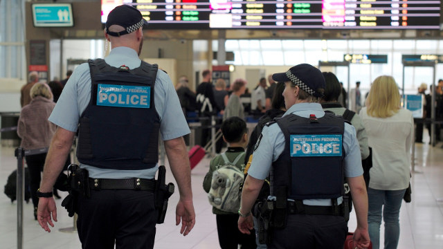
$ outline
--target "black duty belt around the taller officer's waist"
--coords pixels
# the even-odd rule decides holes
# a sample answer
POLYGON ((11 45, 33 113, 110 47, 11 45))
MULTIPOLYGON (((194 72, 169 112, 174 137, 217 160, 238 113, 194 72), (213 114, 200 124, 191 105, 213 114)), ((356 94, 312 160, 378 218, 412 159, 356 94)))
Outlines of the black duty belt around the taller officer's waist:
POLYGON ((89 178, 91 190, 155 190, 154 179, 126 178, 104 179, 89 178))

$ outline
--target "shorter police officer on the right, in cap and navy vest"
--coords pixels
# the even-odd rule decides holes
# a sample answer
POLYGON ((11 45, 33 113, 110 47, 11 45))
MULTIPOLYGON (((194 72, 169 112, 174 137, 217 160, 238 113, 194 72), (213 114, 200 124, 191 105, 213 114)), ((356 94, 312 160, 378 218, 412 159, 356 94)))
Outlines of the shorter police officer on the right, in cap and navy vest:
POLYGON ((239 230, 253 228, 251 208, 271 171, 271 242, 269 248, 343 248, 343 174, 351 188, 357 216, 354 241, 369 246, 368 196, 363 181, 355 129, 343 118, 323 112, 318 98, 325 79, 309 64, 275 73, 284 82, 287 112, 255 145, 242 192, 239 230), (344 124, 344 125, 343 125, 344 124))

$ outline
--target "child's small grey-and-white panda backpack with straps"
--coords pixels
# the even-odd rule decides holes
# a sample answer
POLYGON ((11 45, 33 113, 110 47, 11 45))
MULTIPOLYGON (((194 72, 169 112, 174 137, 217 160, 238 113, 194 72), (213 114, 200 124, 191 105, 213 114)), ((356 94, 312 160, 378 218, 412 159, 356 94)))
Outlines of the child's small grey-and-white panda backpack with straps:
POLYGON ((221 154, 224 165, 219 166, 213 172, 208 193, 209 203, 224 212, 237 213, 240 207, 240 185, 243 182, 244 174, 238 169, 237 162, 242 158, 244 152, 239 154, 231 163, 226 154, 221 154))

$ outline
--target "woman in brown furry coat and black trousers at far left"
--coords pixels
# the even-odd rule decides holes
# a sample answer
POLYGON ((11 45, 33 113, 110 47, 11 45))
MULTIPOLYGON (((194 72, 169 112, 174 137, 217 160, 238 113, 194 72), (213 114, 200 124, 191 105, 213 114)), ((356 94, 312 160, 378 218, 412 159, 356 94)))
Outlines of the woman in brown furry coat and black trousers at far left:
MULTIPOLYGON (((17 125, 17 134, 21 138, 20 147, 29 149, 42 149, 49 147, 51 139, 57 128, 48 121, 55 107, 53 93, 45 83, 35 83, 30 89, 30 103, 21 109, 17 125)), ((40 185, 40 172, 43 171, 46 152, 25 156, 30 175, 30 194, 34 205, 34 219, 37 219, 37 206, 39 198, 37 190, 40 185)))

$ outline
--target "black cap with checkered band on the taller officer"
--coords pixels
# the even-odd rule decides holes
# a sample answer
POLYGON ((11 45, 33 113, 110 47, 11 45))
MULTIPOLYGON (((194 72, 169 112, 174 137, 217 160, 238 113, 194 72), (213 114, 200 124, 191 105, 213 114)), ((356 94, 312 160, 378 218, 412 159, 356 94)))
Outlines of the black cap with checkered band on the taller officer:
POLYGON ((121 5, 111 10, 108 15, 108 19, 105 24, 106 33, 111 36, 119 37, 120 35, 126 35, 147 26, 147 21, 143 19, 141 12, 136 8, 129 5, 121 5), (118 25, 125 28, 120 32, 109 31, 109 27, 112 25, 118 25))

